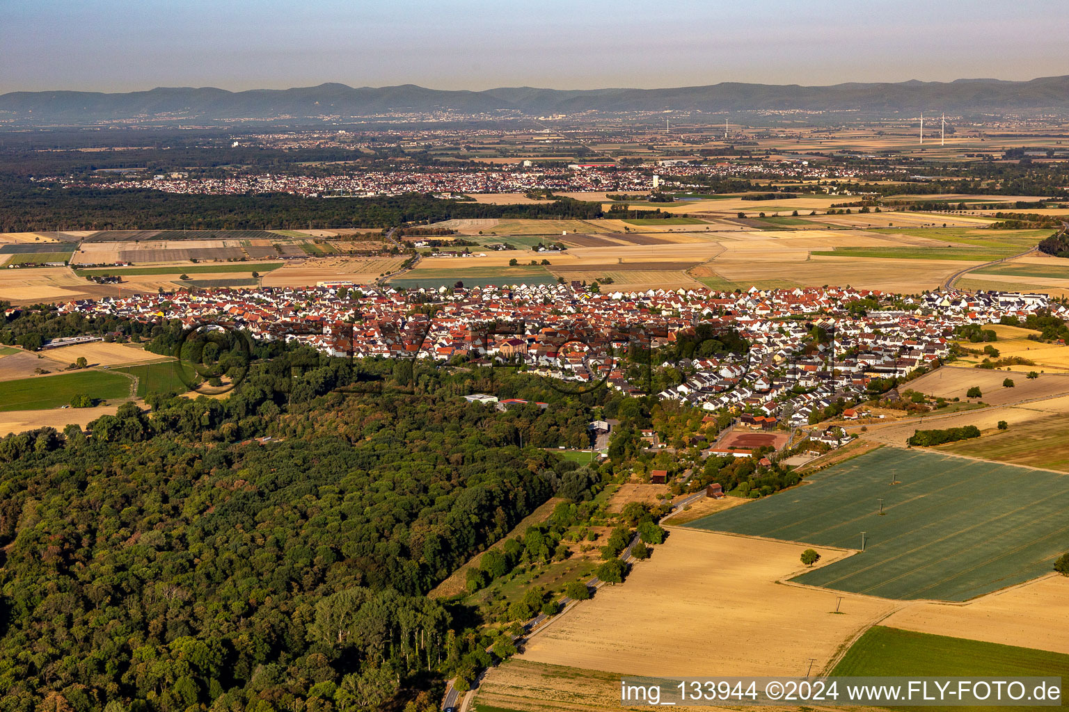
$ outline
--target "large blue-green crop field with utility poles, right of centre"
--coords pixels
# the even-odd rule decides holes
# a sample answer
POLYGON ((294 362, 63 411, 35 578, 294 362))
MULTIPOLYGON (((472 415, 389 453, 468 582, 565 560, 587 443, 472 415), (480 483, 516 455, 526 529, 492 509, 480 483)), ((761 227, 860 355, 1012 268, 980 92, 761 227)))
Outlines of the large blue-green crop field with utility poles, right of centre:
POLYGON ((1067 475, 884 447, 806 481, 688 526, 847 549, 866 532, 864 552, 794 581, 893 599, 964 601, 1069 551, 1067 475))

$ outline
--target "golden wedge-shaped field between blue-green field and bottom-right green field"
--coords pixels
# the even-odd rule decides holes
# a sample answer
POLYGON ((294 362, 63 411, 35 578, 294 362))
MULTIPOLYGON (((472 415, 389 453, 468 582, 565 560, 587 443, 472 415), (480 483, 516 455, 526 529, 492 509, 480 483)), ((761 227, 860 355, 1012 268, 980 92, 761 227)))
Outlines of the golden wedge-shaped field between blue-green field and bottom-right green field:
POLYGON ((1069 653, 1069 579, 1052 573, 964 605, 918 603, 880 624, 1069 653))

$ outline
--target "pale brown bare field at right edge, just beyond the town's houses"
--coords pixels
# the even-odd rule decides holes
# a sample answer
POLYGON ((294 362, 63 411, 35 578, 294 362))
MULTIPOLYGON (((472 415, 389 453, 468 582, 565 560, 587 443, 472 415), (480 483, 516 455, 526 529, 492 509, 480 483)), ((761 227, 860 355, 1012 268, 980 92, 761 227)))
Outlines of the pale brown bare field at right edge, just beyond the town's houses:
MULTIPOLYGON (((1001 345, 1002 342, 993 342, 993 344, 1000 348, 997 345, 1001 345)), ((1032 369, 1028 366, 1023 368, 1032 369)), ((978 400, 992 406, 1003 406, 1033 398, 1052 398, 1069 394, 1069 376, 1040 374, 1039 378, 1027 379, 1018 373, 1008 374, 988 368, 943 366, 910 381, 909 387, 936 398, 966 400, 965 393, 974 385, 979 386, 980 393, 983 394, 978 400), (1013 381, 1011 389, 1003 387, 1003 381, 1007 377, 1013 381)))

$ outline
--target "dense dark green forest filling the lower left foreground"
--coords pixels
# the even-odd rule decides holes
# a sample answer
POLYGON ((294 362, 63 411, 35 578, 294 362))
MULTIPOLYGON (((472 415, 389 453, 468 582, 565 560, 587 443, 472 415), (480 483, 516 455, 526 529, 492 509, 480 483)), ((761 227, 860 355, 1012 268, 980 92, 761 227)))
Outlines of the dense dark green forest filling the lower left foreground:
POLYGON ((474 612, 425 594, 548 497, 589 495, 597 475, 546 448, 586 444, 619 396, 421 365, 413 395, 344 394, 345 360, 254 355, 226 399, 0 440, 0 710, 421 711, 485 664, 474 612), (490 390, 549 406, 461 397, 490 390))

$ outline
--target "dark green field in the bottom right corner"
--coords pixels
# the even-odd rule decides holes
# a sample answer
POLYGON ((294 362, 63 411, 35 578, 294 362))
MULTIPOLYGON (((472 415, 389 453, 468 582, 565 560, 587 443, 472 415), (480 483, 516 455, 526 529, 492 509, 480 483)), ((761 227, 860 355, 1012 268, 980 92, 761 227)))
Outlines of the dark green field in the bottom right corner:
MULTIPOLYGON (((832 670, 832 676, 1060 677, 1064 697, 1066 681, 1069 680, 1069 655, 873 626, 850 647, 832 670)), ((894 709, 934 711, 963 708, 896 707, 894 709)), ((1050 708, 1013 706, 1013 709, 1050 708)))

